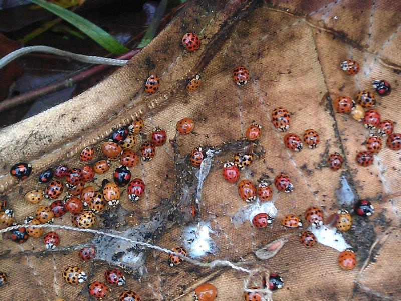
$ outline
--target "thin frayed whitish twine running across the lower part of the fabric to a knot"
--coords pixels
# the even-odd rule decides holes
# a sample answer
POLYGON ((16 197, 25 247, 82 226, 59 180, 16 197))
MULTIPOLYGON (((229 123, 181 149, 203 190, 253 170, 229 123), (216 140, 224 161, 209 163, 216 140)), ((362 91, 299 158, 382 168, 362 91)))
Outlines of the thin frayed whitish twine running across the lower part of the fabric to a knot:
POLYGON ((125 240, 125 241, 128 241, 128 242, 132 243, 132 244, 140 245, 140 246, 143 246, 143 247, 146 247, 146 248, 149 248, 149 249, 158 250, 160 252, 164 252, 164 253, 167 253, 167 254, 172 254, 172 255, 178 256, 181 259, 186 260, 186 261, 188 261, 188 262, 190 262, 190 263, 192 263, 194 265, 197 265, 197 266, 209 267, 209 268, 216 268, 217 266, 229 266, 232 269, 235 269, 235 270, 238 270, 238 271, 241 271, 241 272, 244 272, 244 273, 248 274, 248 277, 246 279, 244 279, 244 285, 243 285, 244 291, 246 291, 246 292, 260 292, 260 293, 264 294, 264 300, 266 300, 266 301, 272 300, 272 292, 271 292, 271 290, 269 288, 265 288, 265 289, 249 289, 248 288, 248 284, 249 284, 250 278, 253 275, 255 275, 256 273, 260 272, 259 269, 250 270, 250 269, 235 265, 234 263, 230 262, 229 260, 216 259, 216 260, 213 260, 211 262, 201 262, 201 261, 198 261, 196 259, 189 258, 189 257, 186 257, 186 256, 184 256, 182 254, 173 252, 173 251, 171 251, 169 249, 162 248, 162 247, 159 247, 159 246, 156 246, 156 245, 152 245, 152 244, 147 243, 147 242, 133 240, 133 239, 130 239, 130 238, 127 238, 127 237, 124 237, 124 236, 120 236, 120 235, 112 234, 112 233, 107 233, 107 232, 103 232, 103 231, 100 231, 100 230, 80 229, 80 228, 75 228, 75 227, 67 226, 67 225, 53 225, 53 224, 52 225, 50 225, 50 224, 15 225, 15 226, 11 226, 11 227, 8 227, 6 229, 0 230, 0 234, 1 233, 6 233, 6 232, 9 232, 11 230, 18 229, 18 228, 59 228, 59 229, 64 229, 64 230, 77 231, 77 232, 93 233, 93 234, 97 234, 97 235, 104 235, 104 236, 109 236, 109 237, 125 240))

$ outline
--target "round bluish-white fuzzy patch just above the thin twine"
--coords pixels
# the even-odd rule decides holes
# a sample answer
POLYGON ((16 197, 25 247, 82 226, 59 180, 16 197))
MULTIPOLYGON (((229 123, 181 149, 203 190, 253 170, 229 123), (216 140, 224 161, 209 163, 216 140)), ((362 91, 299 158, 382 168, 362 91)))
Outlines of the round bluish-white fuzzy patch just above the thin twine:
POLYGON ((202 257, 211 253, 215 255, 217 246, 210 234, 217 234, 212 230, 209 222, 199 222, 189 225, 183 231, 184 247, 190 257, 202 257))

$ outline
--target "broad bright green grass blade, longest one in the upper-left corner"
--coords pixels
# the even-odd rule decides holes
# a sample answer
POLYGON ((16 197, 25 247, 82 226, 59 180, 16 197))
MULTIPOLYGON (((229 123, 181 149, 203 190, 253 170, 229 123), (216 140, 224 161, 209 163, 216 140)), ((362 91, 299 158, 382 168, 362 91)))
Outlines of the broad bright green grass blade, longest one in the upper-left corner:
POLYGON ((46 0, 31 0, 33 3, 40 5, 44 9, 52 12, 53 14, 59 16, 65 21, 71 23, 84 34, 88 35, 92 40, 102 46, 104 49, 114 53, 123 54, 129 51, 124 45, 118 42, 114 37, 105 32, 99 26, 93 24, 92 22, 82 18, 81 16, 66 10, 57 4, 47 2, 46 0))

